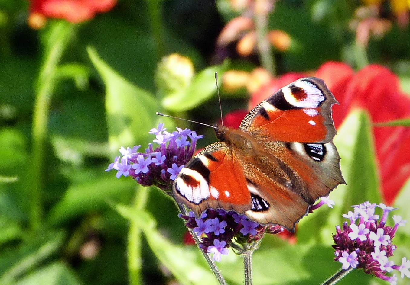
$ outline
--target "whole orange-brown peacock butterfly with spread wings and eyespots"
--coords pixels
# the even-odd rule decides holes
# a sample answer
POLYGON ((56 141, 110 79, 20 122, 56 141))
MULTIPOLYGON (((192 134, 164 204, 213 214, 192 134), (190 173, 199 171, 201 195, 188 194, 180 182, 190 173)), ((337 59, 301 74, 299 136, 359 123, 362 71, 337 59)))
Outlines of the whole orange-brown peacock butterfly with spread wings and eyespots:
POLYGON ((197 216, 222 208, 294 231, 319 197, 345 184, 332 142, 333 104, 324 81, 306 77, 258 104, 239 129, 218 126, 220 141, 175 178, 175 200, 197 216))

